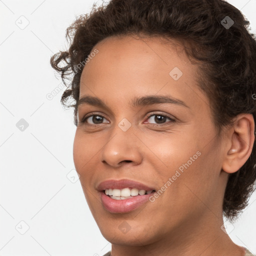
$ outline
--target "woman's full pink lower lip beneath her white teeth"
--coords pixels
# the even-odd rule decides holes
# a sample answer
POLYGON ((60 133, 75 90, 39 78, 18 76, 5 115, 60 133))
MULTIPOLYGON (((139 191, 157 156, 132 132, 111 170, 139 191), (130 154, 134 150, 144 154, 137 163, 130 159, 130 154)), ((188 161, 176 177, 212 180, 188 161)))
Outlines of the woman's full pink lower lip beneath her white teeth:
POLYGON ((106 210, 108 210, 111 213, 124 213, 124 212, 132 211, 138 208, 140 205, 149 201, 149 197, 153 193, 138 195, 132 198, 120 199, 120 200, 112 199, 108 195, 106 195, 104 192, 100 192, 100 194, 101 194, 102 204, 106 210))

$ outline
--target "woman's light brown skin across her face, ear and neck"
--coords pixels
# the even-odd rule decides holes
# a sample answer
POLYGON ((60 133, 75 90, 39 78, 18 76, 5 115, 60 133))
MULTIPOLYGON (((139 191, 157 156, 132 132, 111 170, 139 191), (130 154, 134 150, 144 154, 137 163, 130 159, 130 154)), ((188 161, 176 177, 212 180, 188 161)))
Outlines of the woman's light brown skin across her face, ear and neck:
POLYGON ((112 256, 244 255, 221 229, 222 201, 228 173, 237 171, 251 153, 252 115, 237 116, 217 136, 209 99, 196 85, 197 66, 177 41, 174 48, 159 39, 105 38, 83 68, 79 98, 96 96, 108 106, 78 107, 73 158, 86 201, 112 244, 112 256), (173 67, 183 72, 176 81, 169 75, 173 67), (168 94, 187 107, 131 106, 133 97, 148 94, 168 94), (101 124, 93 127, 92 118, 81 123, 92 112, 104 117, 101 124), (175 121, 157 124, 148 113, 170 115, 175 121), (123 118, 131 123, 125 132, 118 126, 123 118), (160 189, 197 151, 200 156, 154 202, 127 213, 110 213, 102 206, 96 190, 101 181, 128 178, 160 189), (127 233, 118 228, 124 220, 130 226, 127 233))

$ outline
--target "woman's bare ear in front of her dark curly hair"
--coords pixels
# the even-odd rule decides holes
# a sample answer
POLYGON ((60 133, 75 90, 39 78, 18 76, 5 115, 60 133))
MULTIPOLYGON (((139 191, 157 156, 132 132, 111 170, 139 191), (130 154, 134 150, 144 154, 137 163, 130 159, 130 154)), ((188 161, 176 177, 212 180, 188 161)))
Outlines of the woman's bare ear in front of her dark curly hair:
POLYGON ((254 129, 252 114, 244 113, 235 117, 234 124, 228 131, 228 143, 222 164, 223 171, 233 173, 247 161, 255 140, 254 129))

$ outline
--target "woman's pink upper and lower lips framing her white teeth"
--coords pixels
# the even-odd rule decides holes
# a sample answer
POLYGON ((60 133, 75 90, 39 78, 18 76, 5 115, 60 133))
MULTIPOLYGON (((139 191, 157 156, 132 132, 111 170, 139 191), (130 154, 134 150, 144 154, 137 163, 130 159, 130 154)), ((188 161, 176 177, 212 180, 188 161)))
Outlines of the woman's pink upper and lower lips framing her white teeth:
POLYGON ((99 191, 102 205, 107 211, 111 213, 125 213, 125 212, 135 210, 140 205, 146 202, 149 202, 149 197, 154 193, 153 191, 150 194, 137 195, 131 198, 120 199, 120 200, 112 199, 104 193, 104 190, 108 188, 122 189, 125 187, 144 189, 146 191, 148 190, 156 191, 156 189, 153 187, 150 187, 148 185, 145 185, 130 179, 119 179, 119 180, 109 179, 109 180, 102 181, 97 186, 97 190, 99 191))

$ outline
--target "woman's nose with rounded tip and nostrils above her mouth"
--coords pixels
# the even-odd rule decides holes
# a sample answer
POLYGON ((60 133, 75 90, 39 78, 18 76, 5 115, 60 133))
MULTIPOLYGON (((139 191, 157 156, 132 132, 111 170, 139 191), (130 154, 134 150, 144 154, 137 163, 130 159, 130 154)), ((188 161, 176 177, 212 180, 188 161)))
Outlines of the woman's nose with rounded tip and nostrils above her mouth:
POLYGON ((138 139, 132 129, 121 130, 118 126, 102 148, 101 161, 111 167, 118 168, 123 164, 137 165, 142 160, 138 147, 138 139))

